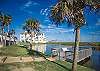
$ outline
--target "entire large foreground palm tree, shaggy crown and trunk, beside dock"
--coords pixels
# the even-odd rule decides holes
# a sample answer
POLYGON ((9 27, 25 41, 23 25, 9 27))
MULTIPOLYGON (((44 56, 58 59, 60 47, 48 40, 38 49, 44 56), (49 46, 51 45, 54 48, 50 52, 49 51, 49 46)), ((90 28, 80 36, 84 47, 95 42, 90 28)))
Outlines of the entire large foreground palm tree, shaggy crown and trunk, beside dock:
POLYGON ((86 24, 83 10, 86 6, 92 9, 100 8, 99 0, 59 0, 51 8, 50 20, 57 26, 63 22, 72 24, 75 28, 75 46, 72 71, 77 71, 77 59, 80 42, 80 27, 86 24))

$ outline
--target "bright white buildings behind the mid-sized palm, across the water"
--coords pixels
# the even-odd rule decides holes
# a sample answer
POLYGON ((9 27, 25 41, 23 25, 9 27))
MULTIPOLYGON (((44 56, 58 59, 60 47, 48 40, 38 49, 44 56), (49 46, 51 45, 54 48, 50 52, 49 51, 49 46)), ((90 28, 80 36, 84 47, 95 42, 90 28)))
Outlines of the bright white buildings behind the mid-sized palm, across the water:
POLYGON ((21 33, 20 34, 20 41, 28 41, 28 42, 32 42, 32 43, 46 43, 46 37, 44 35, 44 33, 21 33))

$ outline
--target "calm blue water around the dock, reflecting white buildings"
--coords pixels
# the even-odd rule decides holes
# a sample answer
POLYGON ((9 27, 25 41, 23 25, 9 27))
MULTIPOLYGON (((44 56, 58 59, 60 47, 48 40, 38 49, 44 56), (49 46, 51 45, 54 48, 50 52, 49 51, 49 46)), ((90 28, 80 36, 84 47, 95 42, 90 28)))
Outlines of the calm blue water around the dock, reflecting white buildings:
MULTIPOLYGON (((64 48, 64 47, 68 47, 68 46, 55 45, 55 44, 36 44, 32 46, 32 49, 45 53, 46 55, 50 55, 51 48, 64 48)), ((80 47, 80 49, 83 49, 83 48, 92 48, 92 47, 90 46, 80 47)), ((68 48, 68 49, 71 50, 71 48, 68 48)), ((90 57, 90 60, 88 60, 88 62, 85 63, 85 66, 89 66, 89 67, 94 68, 96 71, 100 71, 100 51, 93 50, 92 56, 90 57)))

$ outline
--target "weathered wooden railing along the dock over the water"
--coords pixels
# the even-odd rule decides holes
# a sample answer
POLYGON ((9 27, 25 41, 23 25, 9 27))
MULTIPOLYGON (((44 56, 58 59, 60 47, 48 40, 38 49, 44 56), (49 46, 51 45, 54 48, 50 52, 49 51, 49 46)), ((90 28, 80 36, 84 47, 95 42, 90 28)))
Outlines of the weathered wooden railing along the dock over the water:
MULTIPOLYGON (((63 51, 59 51, 59 49, 56 48, 52 53, 58 53, 57 59, 59 60, 66 60, 66 59, 73 60, 73 52, 63 52, 63 51)), ((79 50, 78 53, 77 62, 80 62, 91 55, 92 55, 92 48, 81 49, 79 50)))

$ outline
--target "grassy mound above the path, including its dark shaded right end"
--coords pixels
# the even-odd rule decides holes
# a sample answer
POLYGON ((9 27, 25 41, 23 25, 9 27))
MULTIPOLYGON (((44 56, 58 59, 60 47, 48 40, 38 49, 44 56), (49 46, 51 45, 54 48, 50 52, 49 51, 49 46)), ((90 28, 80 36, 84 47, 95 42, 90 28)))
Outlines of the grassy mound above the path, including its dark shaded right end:
POLYGON ((11 45, 0 48, 0 56, 46 56, 45 54, 35 51, 35 50, 28 50, 26 47, 20 47, 18 45, 11 45))

